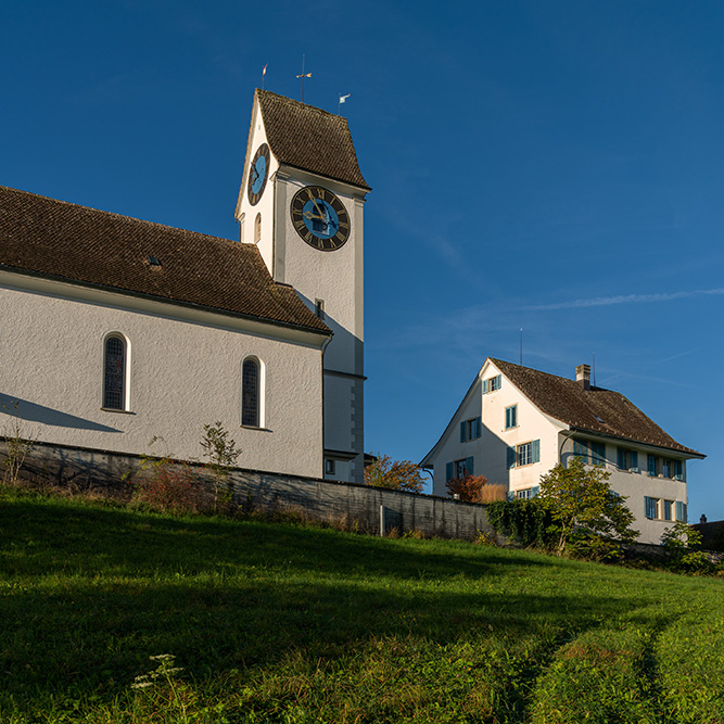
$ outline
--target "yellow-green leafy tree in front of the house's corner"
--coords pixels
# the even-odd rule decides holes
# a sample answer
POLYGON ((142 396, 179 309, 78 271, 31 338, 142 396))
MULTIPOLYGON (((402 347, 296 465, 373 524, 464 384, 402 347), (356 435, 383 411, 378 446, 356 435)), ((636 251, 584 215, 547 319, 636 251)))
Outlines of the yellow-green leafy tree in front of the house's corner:
POLYGON ((559 556, 570 544, 595 558, 617 557, 621 544, 638 537, 631 529, 634 516, 625 506, 627 498, 611 490, 610 477, 602 466, 586 466, 580 457, 541 475, 538 497, 550 511, 559 556))

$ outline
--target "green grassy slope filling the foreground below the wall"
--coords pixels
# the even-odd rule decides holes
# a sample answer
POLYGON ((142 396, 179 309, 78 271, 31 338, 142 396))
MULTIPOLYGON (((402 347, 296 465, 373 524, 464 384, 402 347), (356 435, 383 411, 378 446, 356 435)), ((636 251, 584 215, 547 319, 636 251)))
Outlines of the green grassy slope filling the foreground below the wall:
POLYGON ((5 491, 0 722, 724 722, 722 586, 5 491))

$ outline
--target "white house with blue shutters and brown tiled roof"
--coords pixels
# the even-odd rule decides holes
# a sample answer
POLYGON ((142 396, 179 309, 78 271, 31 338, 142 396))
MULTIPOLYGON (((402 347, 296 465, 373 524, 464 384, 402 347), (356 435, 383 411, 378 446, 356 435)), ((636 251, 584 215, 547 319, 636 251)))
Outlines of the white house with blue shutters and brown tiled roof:
POLYGON ((592 386, 588 365, 569 380, 488 357, 443 435, 422 460, 433 493, 467 471, 533 497, 541 475, 580 456, 611 472, 642 543, 687 519, 686 461, 702 459, 618 392, 592 386))

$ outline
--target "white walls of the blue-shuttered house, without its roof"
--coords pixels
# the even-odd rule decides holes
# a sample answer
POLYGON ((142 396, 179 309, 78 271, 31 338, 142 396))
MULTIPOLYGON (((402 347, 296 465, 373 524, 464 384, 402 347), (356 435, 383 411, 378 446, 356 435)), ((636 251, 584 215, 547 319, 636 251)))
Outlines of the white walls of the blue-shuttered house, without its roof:
POLYGON ((434 495, 447 496, 447 480, 465 469, 506 485, 511 497, 534 497, 541 475, 574 454, 611 472, 612 490, 628 498, 639 542, 659 543, 677 517, 686 518, 691 455, 575 430, 543 412, 491 359, 422 465, 433 469, 434 495))

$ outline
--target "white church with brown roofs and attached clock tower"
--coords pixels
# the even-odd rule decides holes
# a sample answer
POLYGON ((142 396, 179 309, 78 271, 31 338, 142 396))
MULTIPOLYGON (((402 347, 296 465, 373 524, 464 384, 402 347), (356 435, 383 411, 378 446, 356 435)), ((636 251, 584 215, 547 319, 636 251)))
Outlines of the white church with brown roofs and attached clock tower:
POLYGON ((0 187, 0 436, 194 459, 220 421, 243 468, 361 483, 369 191, 345 118, 263 90, 238 240, 0 187))

